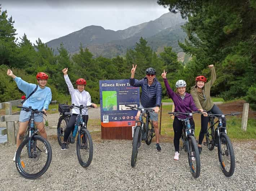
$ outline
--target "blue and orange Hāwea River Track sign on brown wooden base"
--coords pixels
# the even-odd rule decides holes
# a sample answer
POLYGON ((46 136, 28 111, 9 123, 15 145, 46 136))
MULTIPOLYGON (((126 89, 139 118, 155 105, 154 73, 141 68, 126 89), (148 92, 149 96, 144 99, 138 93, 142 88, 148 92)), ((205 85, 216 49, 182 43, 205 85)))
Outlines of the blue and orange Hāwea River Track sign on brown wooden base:
POLYGON ((129 80, 100 80, 101 138, 132 139, 137 110, 125 105, 140 106, 140 88, 129 80))

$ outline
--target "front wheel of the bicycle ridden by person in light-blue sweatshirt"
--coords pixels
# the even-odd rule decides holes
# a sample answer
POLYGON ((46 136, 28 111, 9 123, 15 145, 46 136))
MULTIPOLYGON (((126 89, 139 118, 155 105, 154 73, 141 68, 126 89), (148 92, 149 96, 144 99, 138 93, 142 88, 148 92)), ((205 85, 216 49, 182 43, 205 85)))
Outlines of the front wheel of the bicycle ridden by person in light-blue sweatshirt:
POLYGON ((16 153, 16 167, 18 172, 25 178, 35 179, 42 176, 50 166, 52 161, 52 147, 49 142, 39 135, 35 135, 31 141, 31 154, 28 156, 29 138, 26 138, 16 153), (45 154, 45 149, 48 153, 45 154))

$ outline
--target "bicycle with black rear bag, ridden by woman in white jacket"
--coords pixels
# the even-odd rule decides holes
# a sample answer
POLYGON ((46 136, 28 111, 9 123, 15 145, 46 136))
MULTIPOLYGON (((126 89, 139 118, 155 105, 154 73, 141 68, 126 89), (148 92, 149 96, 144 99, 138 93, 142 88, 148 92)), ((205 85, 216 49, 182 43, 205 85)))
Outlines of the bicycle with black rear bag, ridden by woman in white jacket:
MULTIPOLYGON (((76 140, 76 154, 77 154, 78 161, 79 161, 80 165, 82 167, 88 167, 92 162, 93 142, 92 142, 91 134, 87 130, 85 122, 83 121, 82 109, 87 108, 87 110, 88 110, 88 107, 92 107, 92 106, 91 105, 90 106, 83 106, 83 105, 75 106, 74 104, 72 104, 71 106, 68 106, 68 107, 69 108, 75 108, 75 107, 79 108, 79 115, 76 117, 76 122, 75 122, 75 126, 76 125, 78 126, 78 137, 76 140)), ((65 123, 67 125, 68 124, 67 118, 69 118, 67 116, 69 116, 69 115, 70 115, 69 112, 67 112, 67 113, 64 112, 63 115, 60 117, 58 124, 61 124, 60 121, 63 120, 63 121, 65 121, 65 123)), ((65 126, 65 128, 66 128, 66 126, 65 126)), ((57 129, 58 129, 58 127, 57 127, 57 129)), ((59 130, 61 130, 61 126, 59 126, 59 130)), ((58 132, 58 130, 57 130, 57 132, 58 132)), ((65 132, 65 130, 62 129, 62 133, 57 133, 58 140, 62 140, 62 137, 64 136, 64 132, 65 132)), ((70 139, 70 137, 69 137, 69 139, 70 139)))

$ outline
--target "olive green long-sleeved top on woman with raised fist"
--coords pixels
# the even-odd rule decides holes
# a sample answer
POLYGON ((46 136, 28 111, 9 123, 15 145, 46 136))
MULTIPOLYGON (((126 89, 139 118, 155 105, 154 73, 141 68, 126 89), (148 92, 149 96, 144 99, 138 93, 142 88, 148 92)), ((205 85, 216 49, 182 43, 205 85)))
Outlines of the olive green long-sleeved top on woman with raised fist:
POLYGON ((204 84, 202 92, 198 92, 195 85, 191 87, 190 94, 192 95, 195 105, 199 109, 203 109, 205 111, 211 110, 213 107, 213 102, 210 97, 212 84, 216 80, 216 72, 214 66, 211 69, 211 80, 204 84))

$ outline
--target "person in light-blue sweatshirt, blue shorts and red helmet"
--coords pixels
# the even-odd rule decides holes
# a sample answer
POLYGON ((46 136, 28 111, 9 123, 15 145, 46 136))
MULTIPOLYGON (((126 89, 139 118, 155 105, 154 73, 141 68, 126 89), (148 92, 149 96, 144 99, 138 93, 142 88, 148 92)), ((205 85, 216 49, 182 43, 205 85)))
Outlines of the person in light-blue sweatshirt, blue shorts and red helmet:
MULTIPOLYGON (((27 83, 26 81, 17 77, 16 75, 13 74, 12 70, 10 69, 7 70, 7 75, 14 79, 18 88, 26 94, 26 97, 28 97, 28 95, 30 95, 37 86, 36 84, 27 83)), ((38 88, 36 89, 35 93, 31 95, 31 97, 26 99, 26 101, 23 103, 22 106, 23 107, 31 106, 31 108, 34 110, 36 109, 43 110, 46 113, 46 110, 48 110, 48 106, 52 101, 52 92, 49 87, 46 87, 48 75, 43 72, 39 72, 36 75, 36 79, 38 83, 38 88)), ((30 116, 31 116, 31 111, 26 112, 24 110, 21 110, 21 113, 19 115, 19 131, 17 134, 17 149, 23 141, 23 138, 20 139, 20 137, 23 137, 26 133, 30 116)), ((35 125, 37 126, 37 129, 40 132, 40 135, 43 138, 47 139, 47 134, 44 129, 43 116, 41 114, 35 113, 34 122, 35 122, 35 125)), ((45 153, 47 153, 46 148, 44 149, 45 149, 45 153)), ((15 161, 15 158, 16 158, 16 152, 14 154, 13 161, 15 161)))

